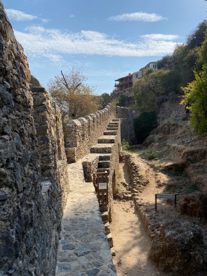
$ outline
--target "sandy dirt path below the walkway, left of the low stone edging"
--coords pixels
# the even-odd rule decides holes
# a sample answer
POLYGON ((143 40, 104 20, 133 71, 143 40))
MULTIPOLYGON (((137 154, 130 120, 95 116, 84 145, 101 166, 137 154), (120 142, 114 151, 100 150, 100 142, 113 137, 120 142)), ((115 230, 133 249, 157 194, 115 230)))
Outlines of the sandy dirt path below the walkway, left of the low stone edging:
MULTIPOLYGON (((124 164, 120 164, 120 181, 128 183, 124 164)), ((124 189, 122 186, 121 189, 124 189)), ((114 200, 114 213, 110 224, 113 236, 117 275, 163 275, 148 257, 150 239, 142 219, 134 209, 133 201, 114 200)))

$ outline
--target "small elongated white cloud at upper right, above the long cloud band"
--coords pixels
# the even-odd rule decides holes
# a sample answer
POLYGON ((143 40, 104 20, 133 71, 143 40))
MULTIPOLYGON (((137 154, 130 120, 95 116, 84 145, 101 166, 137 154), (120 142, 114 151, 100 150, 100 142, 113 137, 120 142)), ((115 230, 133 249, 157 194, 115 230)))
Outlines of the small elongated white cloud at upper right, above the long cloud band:
POLYGON ((110 21, 144 21, 144 22, 156 22, 156 21, 165 20, 165 19, 167 18, 154 13, 149 14, 149 13, 143 13, 143 12, 116 15, 108 18, 108 20, 110 21))

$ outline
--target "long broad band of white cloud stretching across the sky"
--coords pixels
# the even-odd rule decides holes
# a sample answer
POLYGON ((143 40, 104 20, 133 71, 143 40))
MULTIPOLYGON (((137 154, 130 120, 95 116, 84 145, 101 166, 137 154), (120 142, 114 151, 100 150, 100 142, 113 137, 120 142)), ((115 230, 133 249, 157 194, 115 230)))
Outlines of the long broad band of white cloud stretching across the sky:
POLYGON ((94 31, 72 33, 40 26, 28 27, 25 32, 15 31, 15 35, 28 55, 44 56, 53 61, 64 60, 66 54, 136 57, 164 55, 171 53, 176 45, 170 36, 172 39, 177 37, 152 34, 129 42, 94 31))

